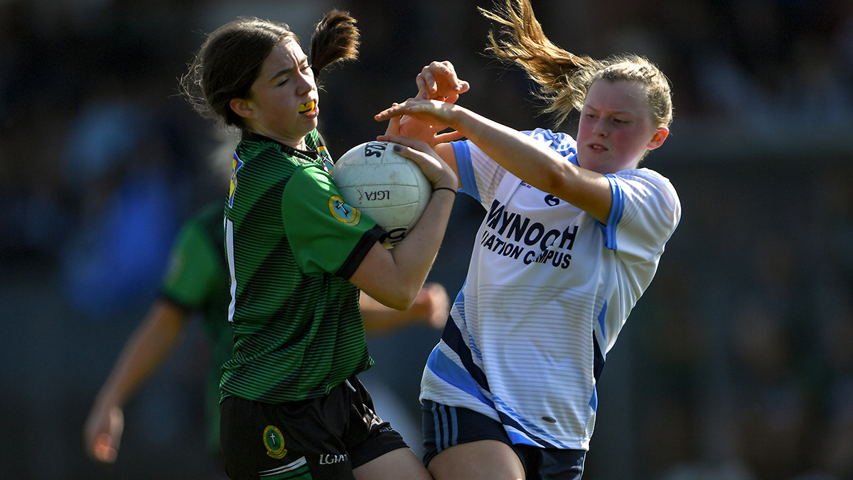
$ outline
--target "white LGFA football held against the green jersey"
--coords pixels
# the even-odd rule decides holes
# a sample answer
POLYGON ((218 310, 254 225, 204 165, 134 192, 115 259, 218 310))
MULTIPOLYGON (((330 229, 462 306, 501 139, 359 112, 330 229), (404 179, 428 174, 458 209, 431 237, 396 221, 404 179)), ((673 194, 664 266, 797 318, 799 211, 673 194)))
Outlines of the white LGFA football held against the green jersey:
POLYGON ((392 143, 367 142, 342 155, 332 168, 340 196, 388 233, 387 248, 403 240, 432 196, 432 184, 414 161, 397 155, 392 143))

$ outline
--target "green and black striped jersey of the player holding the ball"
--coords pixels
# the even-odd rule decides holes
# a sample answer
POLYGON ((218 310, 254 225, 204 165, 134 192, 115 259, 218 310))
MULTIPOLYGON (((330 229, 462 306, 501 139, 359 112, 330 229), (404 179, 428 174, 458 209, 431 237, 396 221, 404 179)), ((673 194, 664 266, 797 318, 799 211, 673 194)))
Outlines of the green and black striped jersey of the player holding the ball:
POLYGON ((280 403, 326 395, 373 365, 348 279, 384 231, 347 205, 315 131, 297 150, 243 135, 225 237, 234 356, 223 398, 280 403))

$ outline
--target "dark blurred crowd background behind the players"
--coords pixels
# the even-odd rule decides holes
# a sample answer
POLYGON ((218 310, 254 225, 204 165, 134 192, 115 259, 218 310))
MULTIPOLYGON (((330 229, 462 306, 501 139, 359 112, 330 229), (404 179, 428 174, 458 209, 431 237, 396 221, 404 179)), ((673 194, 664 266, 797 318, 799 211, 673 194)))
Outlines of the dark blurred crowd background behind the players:
MULTIPOLYGON (((674 85, 672 134, 645 165, 676 185, 682 224, 608 355, 584 478, 853 478, 853 2, 532 4, 566 50, 645 55, 674 85)), ((373 115, 432 60, 471 83, 468 108, 553 126, 533 85, 483 56, 494 26, 478 5, 491 3, 0 0, 0 477, 218 475, 198 327, 125 409, 115 465, 87 459, 81 433, 178 226, 225 195, 233 135, 178 95, 206 32, 255 15, 307 44, 323 13, 349 10, 360 59, 320 77, 333 155, 384 132, 373 115)), ((482 214, 457 200, 429 278, 451 296, 482 214)), ((439 335, 370 339, 368 377, 401 425, 419 425, 439 335)))

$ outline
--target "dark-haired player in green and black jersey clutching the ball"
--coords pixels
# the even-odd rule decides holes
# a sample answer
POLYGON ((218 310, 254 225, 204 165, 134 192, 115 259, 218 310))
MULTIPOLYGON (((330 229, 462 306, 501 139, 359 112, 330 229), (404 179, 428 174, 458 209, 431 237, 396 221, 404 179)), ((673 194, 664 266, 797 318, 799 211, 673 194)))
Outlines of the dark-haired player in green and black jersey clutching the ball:
POLYGON ((354 21, 328 14, 309 58, 286 25, 234 20, 208 36, 183 79, 201 114, 241 130, 224 222, 235 348, 220 439, 231 478, 430 478, 356 378, 373 364, 358 298, 411 305, 458 180, 426 143, 393 147, 434 191, 390 250, 384 230, 341 198, 316 131, 314 72, 356 55, 354 21))

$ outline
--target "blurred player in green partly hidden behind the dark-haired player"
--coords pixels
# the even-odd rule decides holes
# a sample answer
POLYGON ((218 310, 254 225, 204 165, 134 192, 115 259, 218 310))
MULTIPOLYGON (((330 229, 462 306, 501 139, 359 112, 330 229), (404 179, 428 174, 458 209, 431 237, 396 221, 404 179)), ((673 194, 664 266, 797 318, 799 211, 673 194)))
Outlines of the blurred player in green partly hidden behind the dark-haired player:
MULTIPOLYGON (((125 427, 125 404, 163 366, 196 313, 210 345, 205 384, 207 448, 219 460, 219 380, 221 367, 234 348, 228 323, 229 272, 222 214, 222 202, 212 202, 187 220, 178 234, 160 296, 125 343, 84 425, 86 452, 95 460, 116 460, 125 427)), ((369 335, 424 323, 440 328, 447 319, 450 299, 444 286, 427 283, 408 310, 386 307, 364 293, 359 304, 369 335)))

